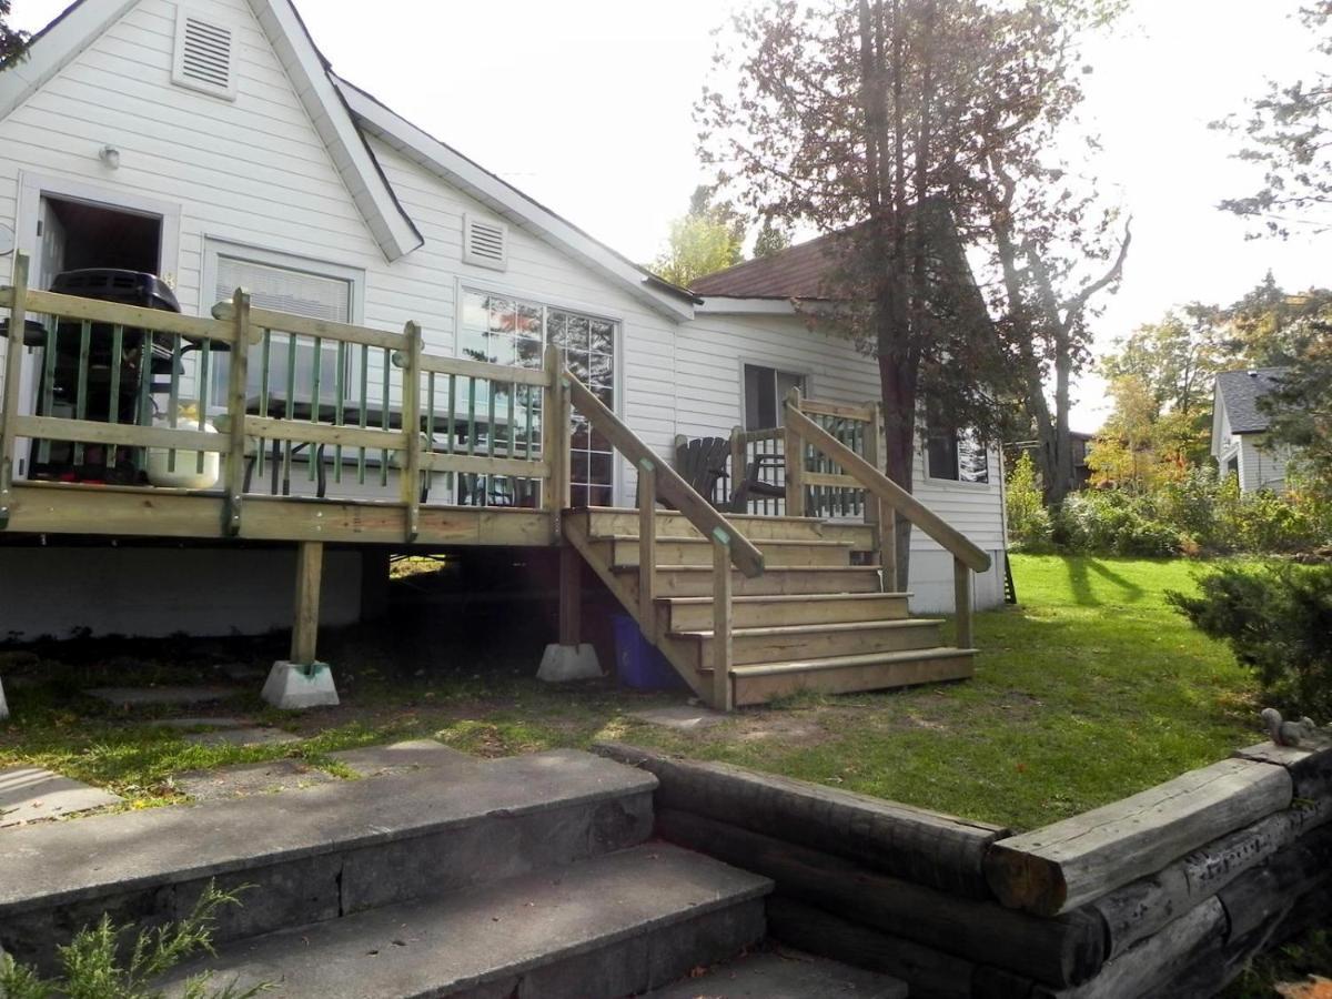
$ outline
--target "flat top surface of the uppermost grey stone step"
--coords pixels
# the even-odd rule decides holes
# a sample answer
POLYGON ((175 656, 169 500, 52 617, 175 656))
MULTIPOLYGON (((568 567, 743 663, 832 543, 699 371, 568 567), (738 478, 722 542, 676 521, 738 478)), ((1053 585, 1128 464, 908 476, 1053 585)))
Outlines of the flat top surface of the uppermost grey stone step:
POLYGON ((95 815, 0 836, 0 916, 410 839, 478 822, 646 794, 655 778, 554 750, 289 794, 95 815))

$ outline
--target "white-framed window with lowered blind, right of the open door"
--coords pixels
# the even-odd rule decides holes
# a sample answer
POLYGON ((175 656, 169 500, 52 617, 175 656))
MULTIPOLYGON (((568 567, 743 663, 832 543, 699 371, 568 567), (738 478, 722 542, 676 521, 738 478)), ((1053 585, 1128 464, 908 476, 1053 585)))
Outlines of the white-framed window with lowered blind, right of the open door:
MULTIPOLYGON (((250 304, 257 309, 288 312, 328 322, 356 322, 361 281, 356 272, 332 264, 321 265, 221 244, 209 244, 206 268, 212 278, 208 286, 214 301, 230 301, 236 289, 244 288, 250 294, 250 304), (321 273, 324 268, 326 273, 321 273)), ((346 358, 346 370, 342 372, 344 385, 350 389, 357 385, 357 380, 352 377, 356 352, 348 350, 344 356, 346 358)), ((321 385, 336 385, 337 357, 337 344, 322 345, 321 385)), ((252 346, 245 384, 248 396, 257 396, 260 392, 262 365, 262 346, 252 346)), ((226 398, 228 368, 225 360, 220 360, 213 368, 209 386, 213 400, 226 398)), ((314 392, 314 344, 306 337, 297 338, 293 366, 286 338, 281 336, 281 330, 274 329, 268 358, 268 385, 270 400, 285 402, 290 385, 293 401, 309 401, 314 392)), ((352 394, 349 390, 344 392, 344 397, 352 394)))

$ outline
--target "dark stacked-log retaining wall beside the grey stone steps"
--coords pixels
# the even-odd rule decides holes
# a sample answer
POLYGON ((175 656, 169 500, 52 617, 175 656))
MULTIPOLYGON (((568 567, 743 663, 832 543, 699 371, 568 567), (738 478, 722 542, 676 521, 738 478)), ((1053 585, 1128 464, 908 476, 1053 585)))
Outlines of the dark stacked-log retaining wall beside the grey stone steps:
POLYGON ((928 999, 1209 995, 1332 911, 1332 750, 1264 743, 1012 835, 619 743, 657 831, 773 878, 770 932, 928 999))

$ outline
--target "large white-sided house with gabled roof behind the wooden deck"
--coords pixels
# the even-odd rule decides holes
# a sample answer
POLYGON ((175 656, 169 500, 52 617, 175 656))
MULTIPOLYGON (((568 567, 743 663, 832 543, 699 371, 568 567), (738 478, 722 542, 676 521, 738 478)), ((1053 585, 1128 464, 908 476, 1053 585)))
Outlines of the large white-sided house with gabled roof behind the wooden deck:
MULTIPOLYGON (((790 305, 809 289, 782 274, 817 270, 809 246, 729 272, 730 292, 717 290, 725 277, 698 296, 671 286, 340 79, 288 0, 73 4, 0 73, 3 226, 32 258, 36 288, 72 268, 147 270, 186 314, 206 316, 245 286, 257 308, 384 330, 410 320, 428 352, 522 366, 539 366, 543 341, 569 330, 558 336, 570 366, 662 456, 677 434, 775 424, 790 385, 834 401, 878 397, 876 362, 809 332, 790 305), (749 288, 745 274, 769 284, 749 288)), ((324 346, 318 370, 330 364, 324 346)), ((313 350, 296 366, 308 382, 313 350)), ((210 398, 221 398, 224 365, 209 372, 210 398)), ((32 412, 36 365, 21 377, 32 412)), ((182 381, 184 397, 200 390, 193 360, 182 381)), ((575 434, 575 505, 635 501, 634 472, 605 441, 575 434)), ((918 497, 1002 550, 998 452, 926 433, 916 468, 918 497)), ((310 488, 298 478, 297 492, 310 488)), ((915 606, 950 607, 951 559, 919 534, 916 550, 915 606)), ((248 591, 216 606, 164 583, 221 593, 237 559, 290 557, 196 546, 168 562, 140 549, 116 555, 112 571, 76 549, 35 559, 0 547, 0 575, 21 566, 31 581, 7 595, 0 634, 17 622, 59 633, 76 611, 72 623, 95 631, 281 627, 285 567, 250 567, 248 591), (43 595, 57 586, 67 599, 43 595)), ((360 558, 330 551, 328 623, 357 614, 360 558)), ((976 605, 1000 599, 991 570, 976 605)))

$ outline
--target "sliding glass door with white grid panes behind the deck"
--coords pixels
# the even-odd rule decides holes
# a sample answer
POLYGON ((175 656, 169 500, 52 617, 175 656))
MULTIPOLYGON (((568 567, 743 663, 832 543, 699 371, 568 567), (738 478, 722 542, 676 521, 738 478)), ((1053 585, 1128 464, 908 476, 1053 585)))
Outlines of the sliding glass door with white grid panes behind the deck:
MULTIPOLYGON (((462 293, 458 353, 473 361, 539 369, 546 344, 563 352, 569 370, 607 409, 615 409, 615 324, 611 320, 558 309, 489 292, 462 293)), ((478 401, 488 408, 489 400, 478 401)), ((497 406, 500 413, 503 406, 497 406)), ((579 413, 573 416, 570 445, 571 502, 574 506, 610 506, 614 453, 599 432, 579 413)))

